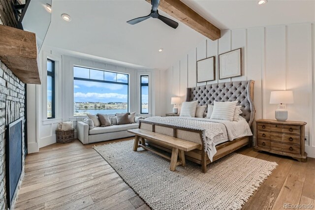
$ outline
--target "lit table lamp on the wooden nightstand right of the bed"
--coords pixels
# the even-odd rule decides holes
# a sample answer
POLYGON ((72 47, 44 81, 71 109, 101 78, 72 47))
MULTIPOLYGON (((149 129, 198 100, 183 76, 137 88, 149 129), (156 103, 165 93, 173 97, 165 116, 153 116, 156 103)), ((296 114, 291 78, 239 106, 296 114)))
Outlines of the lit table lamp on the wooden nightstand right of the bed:
POLYGON ((270 103, 278 104, 275 112, 275 118, 278 121, 287 120, 287 110, 285 104, 293 104, 293 91, 292 90, 280 90, 271 91, 270 103))

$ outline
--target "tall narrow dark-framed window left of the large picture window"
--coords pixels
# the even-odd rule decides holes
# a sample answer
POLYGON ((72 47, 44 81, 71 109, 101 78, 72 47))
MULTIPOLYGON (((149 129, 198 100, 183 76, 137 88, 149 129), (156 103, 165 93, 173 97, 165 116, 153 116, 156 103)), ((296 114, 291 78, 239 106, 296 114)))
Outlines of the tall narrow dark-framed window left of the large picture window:
POLYGON ((47 60, 47 119, 55 118, 55 61, 47 60))

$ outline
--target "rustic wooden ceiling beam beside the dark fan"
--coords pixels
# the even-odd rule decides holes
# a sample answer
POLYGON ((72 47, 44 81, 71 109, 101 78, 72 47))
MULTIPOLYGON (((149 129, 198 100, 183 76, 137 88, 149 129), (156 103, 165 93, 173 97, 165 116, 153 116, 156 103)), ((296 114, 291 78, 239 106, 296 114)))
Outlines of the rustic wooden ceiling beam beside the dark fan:
MULTIPOLYGON (((151 3, 151 0, 146 1, 151 3)), ((158 9, 212 40, 217 40, 221 37, 220 29, 201 17, 181 0, 160 0, 158 9)))

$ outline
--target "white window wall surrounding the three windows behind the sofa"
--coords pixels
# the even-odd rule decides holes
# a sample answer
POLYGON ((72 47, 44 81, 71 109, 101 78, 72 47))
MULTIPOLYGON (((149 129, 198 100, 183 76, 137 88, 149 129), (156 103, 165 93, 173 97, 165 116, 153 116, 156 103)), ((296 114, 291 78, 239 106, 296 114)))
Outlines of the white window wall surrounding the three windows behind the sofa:
MULTIPOLYGON (((137 116, 155 116, 161 114, 160 71, 154 69, 134 69, 105 63, 101 60, 74 57, 50 47, 43 46, 39 55, 42 71, 41 85, 28 85, 28 125, 29 153, 56 142, 55 130, 58 122, 72 120, 76 128, 78 118, 73 117, 73 65, 109 70, 129 74, 129 112, 137 116), (55 119, 47 119, 47 58, 55 60, 55 119), (140 115, 140 74, 147 74, 149 83, 149 115, 140 115), (151 90, 151 91, 150 91, 151 90)), ((76 135, 76 131, 75 131, 76 135)))

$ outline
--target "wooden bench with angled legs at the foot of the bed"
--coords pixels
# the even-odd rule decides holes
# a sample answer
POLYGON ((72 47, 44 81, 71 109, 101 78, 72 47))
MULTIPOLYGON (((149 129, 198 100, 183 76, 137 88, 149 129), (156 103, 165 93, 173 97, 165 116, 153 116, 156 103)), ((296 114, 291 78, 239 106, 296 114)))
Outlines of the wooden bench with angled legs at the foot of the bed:
POLYGON ((169 167, 169 170, 171 171, 175 171, 176 166, 178 165, 182 165, 182 166, 186 165, 184 151, 190 151, 190 150, 200 148, 200 144, 198 143, 189 142, 189 141, 178 139, 171 136, 165 136, 165 135, 148 131, 148 130, 137 128, 137 129, 130 129, 128 130, 128 132, 135 135, 133 151, 137 151, 138 147, 142 147, 145 150, 152 151, 162 157, 165 157, 171 160, 171 164, 169 167), (159 144, 171 147, 172 148, 171 157, 165 154, 162 154, 156 150, 152 150, 151 148, 148 148, 146 146, 145 139, 149 139, 153 142, 157 142, 159 144), (141 140, 141 144, 139 144, 139 140, 141 140), (180 160, 178 160, 178 156, 180 160))

